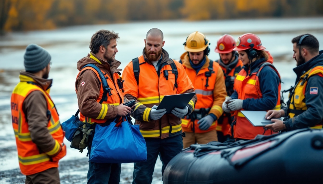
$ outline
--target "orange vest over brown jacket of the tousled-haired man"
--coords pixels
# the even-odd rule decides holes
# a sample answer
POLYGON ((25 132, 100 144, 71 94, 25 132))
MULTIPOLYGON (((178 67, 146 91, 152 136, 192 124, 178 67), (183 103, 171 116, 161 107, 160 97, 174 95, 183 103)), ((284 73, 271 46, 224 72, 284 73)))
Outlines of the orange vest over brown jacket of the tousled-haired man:
MULTIPOLYGON (((80 112, 80 121, 88 122, 89 124, 105 123, 105 122, 107 122, 107 119, 104 119, 104 117, 106 116, 107 111, 108 111, 108 104, 109 105, 120 105, 121 103, 123 103, 123 92, 122 92, 123 88, 115 87, 115 86, 122 85, 122 84, 120 84, 120 75, 118 73, 113 73, 113 80, 114 81, 112 81, 111 78, 108 77, 109 75, 107 73, 102 72, 102 70, 99 69, 99 67, 97 67, 95 64, 88 64, 80 70, 80 72, 78 73, 78 76, 80 74, 82 74, 85 70, 92 70, 97 75, 99 83, 101 84, 100 85, 100 94, 99 94, 99 98, 97 99, 97 102, 102 104, 102 110, 101 110, 99 116, 95 119, 85 117, 80 112), (96 67, 96 68, 94 68, 94 67, 96 67), (106 79, 104 82, 102 82, 102 76, 103 76, 103 79, 106 79), (112 88, 111 88, 111 86, 112 86, 112 88), (115 87, 115 88, 113 88, 113 87, 115 87)), ((77 78, 78 78, 78 76, 77 76, 77 78)), ((121 121, 118 121, 117 126, 119 126, 120 123, 121 123, 121 121)))

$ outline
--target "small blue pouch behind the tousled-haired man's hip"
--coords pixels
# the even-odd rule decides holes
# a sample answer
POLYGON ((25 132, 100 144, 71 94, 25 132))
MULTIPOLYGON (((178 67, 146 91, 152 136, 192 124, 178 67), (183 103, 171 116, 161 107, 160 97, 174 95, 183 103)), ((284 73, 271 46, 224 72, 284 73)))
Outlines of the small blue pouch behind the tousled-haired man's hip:
POLYGON ((63 130, 65 131, 65 137, 68 141, 72 142, 73 135, 78 127, 83 126, 83 122, 80 121, 78 115, 72 115, 71 118, 62 123, 63 130))

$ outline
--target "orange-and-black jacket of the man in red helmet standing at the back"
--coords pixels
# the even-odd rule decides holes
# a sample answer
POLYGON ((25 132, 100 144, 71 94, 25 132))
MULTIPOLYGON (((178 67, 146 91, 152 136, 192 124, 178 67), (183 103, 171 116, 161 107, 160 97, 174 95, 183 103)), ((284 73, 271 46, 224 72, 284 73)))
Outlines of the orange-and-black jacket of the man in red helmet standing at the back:
MULTIPOLYGON (((235 60, 232 63, 224 64, 221 59, 216 61, 219 63, 220 67, 222 68, 222 71, 224 73, 224 81, 225 81, 225 87, 226 92, 228 96, 234 92, 234 85, 231 84, 234 82, 235 77, 238 75, 238 73, 241 71, 243 63, 240 59, 238 59, 239 54, 235 53, 235 60)), ((218 119, 218 125, 216 127, 216 131, 221 131, 223 135, 230 135, 231 136, 231 123, 233 117, 233 114, 224 112, 222 116, 218 119)))

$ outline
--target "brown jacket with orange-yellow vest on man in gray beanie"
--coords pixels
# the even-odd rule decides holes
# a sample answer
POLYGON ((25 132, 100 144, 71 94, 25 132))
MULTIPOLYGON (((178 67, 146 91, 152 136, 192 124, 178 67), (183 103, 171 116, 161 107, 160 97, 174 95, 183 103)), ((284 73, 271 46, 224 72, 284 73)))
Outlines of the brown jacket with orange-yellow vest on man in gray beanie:
POLYGON ((48 94, 52 80, 27 72, 19 78, 11 96, 12 126, 20 170, 32 175, 58 167, 58 160, 66 155, 65 132, 48 94))

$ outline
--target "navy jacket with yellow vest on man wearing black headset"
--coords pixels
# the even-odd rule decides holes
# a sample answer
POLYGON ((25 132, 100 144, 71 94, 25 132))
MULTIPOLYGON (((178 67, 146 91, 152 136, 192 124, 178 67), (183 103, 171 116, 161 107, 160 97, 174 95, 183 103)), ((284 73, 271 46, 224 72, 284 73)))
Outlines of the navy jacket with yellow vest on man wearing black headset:
POLYGON ((297 81, 294 94, 289 97, 291 100, 288 110, 286 111, 289 119, 284 122, 288 131, 307 127, 322 129, 323 120, 322 113, 320 113, 322 110, 322 99, 319 97, 320 88, 322 88, 322 86, 320 82, 315 82, 313 78, 310 78, 313 76, 323 77, 322 58, 323 56, 318 57, 314 60, 315 62, 312 61, 312 63, 305 63, 303 66, 298 66, 298 68, 306 68, 314 63, 318 63, 308 71, 305 70, 306 72, 304 69, 294 69, 294 71, 297 71, 295 73, 299 76, 299 80, 297 81), (305 73, 303 73, 303 71, 305 73), (308 92, 306 93, 306 91, 308 92))

